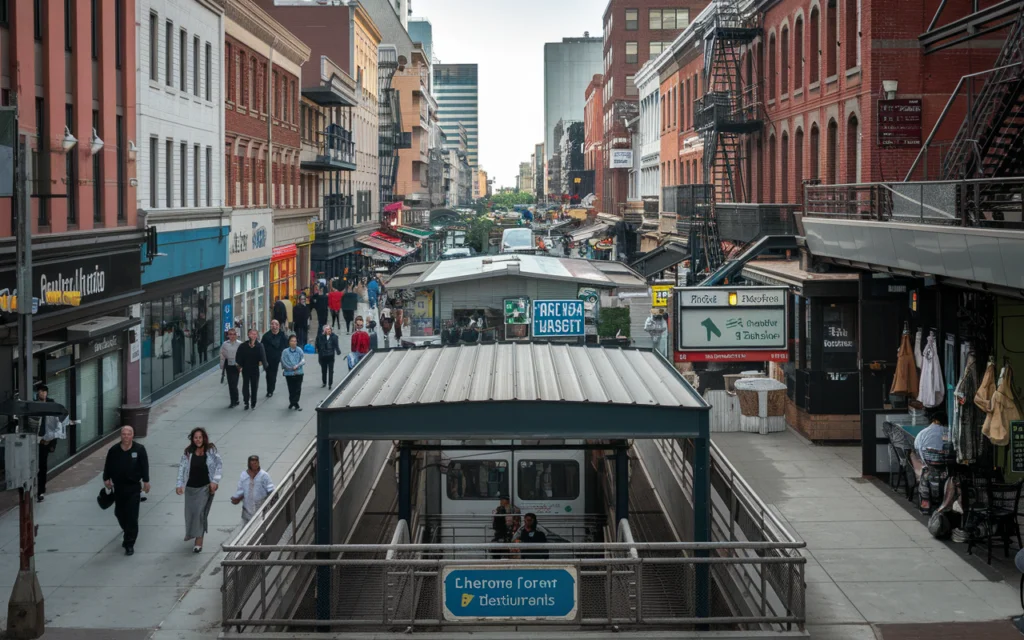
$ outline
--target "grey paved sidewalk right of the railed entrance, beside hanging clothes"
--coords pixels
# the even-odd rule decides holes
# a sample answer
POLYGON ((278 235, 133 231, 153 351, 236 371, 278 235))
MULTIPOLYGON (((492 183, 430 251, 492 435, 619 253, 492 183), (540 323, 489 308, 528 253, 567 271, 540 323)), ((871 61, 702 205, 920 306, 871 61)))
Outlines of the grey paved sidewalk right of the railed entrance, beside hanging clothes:
MULTIPOLYGON (((966 545, 928 532, 924 516, 888 486, 860 474, 860 446, 817 446, 791 430, 715 433, 729 461, 797 538, 807 543, 807 623, 812 638, 874 640, 1001 638, 993 628, 1021 613, 1019 575, 966 556, 966 545), (909 624, 913 627, 893 627, 909 624), (907 635, 922 626, 931 635, 907 635), (970 625, 967 625, 970 627, 970 625)), ((1001 548, 999 549, 1001 560, 1001 548)), ((1012 559, 1009 562, 1013 566, 1012 559)), ((993 565, 996 560, 993 558, 993 565)), ((1016 633, 1016 631, 1014 631, 1016 633)), ((1010 637, 1010 636, 1007 636, 1010 637)), ((1018 636, 1019 637, 1019 634, 1018 636)))

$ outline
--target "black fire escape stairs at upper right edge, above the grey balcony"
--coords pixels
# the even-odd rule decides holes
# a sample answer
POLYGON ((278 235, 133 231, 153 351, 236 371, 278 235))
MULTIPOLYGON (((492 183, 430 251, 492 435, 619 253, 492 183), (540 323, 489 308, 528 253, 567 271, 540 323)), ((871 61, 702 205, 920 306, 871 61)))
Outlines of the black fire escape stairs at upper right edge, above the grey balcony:
MULTIPOLYGON (((943 161, 947 180, 1020 177, 1024 174, 1024 11, 1010 28, 985 86, 969 105, 943 161)), ((1020 215, 1020 185, 989 182, 966 197, 978 220, 1020 215)))

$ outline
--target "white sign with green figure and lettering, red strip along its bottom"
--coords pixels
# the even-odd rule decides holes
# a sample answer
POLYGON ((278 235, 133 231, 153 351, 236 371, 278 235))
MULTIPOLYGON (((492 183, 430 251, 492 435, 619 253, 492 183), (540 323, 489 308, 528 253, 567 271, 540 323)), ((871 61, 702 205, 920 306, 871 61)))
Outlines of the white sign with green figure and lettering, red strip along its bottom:
POLYGON ((676 289, 678 362, 788 359, 786 289, 676 289))

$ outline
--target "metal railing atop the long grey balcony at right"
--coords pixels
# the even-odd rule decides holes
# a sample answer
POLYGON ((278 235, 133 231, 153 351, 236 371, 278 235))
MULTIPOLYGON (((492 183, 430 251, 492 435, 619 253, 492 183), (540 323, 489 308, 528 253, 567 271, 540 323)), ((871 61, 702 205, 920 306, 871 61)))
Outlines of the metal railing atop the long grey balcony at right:
POLYGON ((944 226, 1024 228, 1024 178, 806 187, 804 215, 944 226))

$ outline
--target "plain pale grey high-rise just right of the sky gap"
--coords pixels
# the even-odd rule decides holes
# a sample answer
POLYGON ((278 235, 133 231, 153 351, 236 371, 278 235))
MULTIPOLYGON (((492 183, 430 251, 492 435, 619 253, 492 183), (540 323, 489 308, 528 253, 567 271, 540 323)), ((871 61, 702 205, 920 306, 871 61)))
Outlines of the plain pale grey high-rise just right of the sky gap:
POLYGON ((600 38, 563 38, 544 45, 544 148, 550 160, 558 151, 555 124, 580 120, 587 85, 601 73, 600 38))

